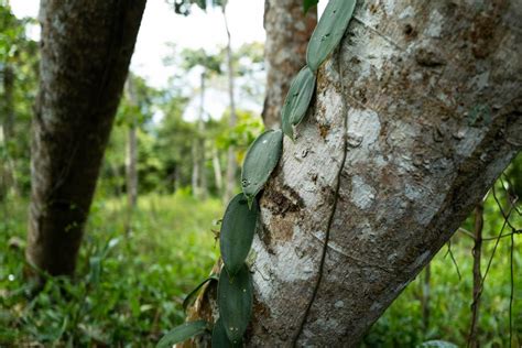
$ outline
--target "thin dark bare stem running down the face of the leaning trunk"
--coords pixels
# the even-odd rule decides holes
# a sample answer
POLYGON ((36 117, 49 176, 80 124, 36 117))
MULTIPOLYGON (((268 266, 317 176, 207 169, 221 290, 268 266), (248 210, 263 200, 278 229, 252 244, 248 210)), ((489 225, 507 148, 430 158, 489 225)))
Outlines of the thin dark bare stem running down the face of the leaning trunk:
MULTIPOLYGON (((339 81, 340 81, 340 86, 341 86, 341 93, 344 94, 345 93, 345 84, 344 84, 344 80, 342 80, 342 68, 341 68, 341 64, 340 64, 340 50, 337 51, 337 70, 338 70, 338 74, 339 74, 339 81)), ((334 203, 333 203, 333 206, 331 206, 331 211, 330 211, 330 215, 328 216, 328 224, 326 226, 326 232, 325 232, 325 241, 324 241, 324 244, 323 244, 323 250, 322 250, 322 253, 320 253, 320 261, 319 261, 319 269, 317 271, 317 280, 315 282, 315 285, 314 285, 314 290, 312 292, 312 296, 308 301, 308 304, 306 306, 306 309, 305 309, 305 313, 303 314, 303 317, 301 319, 301 324, 300 324, 300 327, 292 340, 292 346, 293 347, 297 347, 297 341, 301 337, 301 334, 303 333, 303 329, 304 329, 304 326, 306 324, 306 320, 308 318, 308 314, 309 314, 309 311, 312 309, 312 305, 314 304, 315 302, 315 298, 317 297, 317 293, 319 291, 319 285, 320 285, 320 281, 323 280, 323 273, 324 273, 324 268, 325 268, 325 262, 326 262, 326 252, 328 250, 328 241, 329 241, 329 238, 330 238, 330 230, 331 230, 331 225, 334 224, 334 217, 335 217, 335 214, 336 214, 336 210, 337 210, 337 203, 339 200, 339 191, 340 191, 340 177, 341 177, 341 174, 342 174, 342 168, 345 167, 345 163, 346 163, 346 157, 347 157, 347 154, 348 154, 348 116, 347 116, 347 110, 348 110, 348 107, 347 107, 347 104, 346 104, 346 99, 342 97, 342 157, 341 157, 341 161, 340 161, 340 165, 339 165, 339 171, 337 172, 337 175, 336 175, 336 183, 335 183, 335 193, 334 193, 334 203)))

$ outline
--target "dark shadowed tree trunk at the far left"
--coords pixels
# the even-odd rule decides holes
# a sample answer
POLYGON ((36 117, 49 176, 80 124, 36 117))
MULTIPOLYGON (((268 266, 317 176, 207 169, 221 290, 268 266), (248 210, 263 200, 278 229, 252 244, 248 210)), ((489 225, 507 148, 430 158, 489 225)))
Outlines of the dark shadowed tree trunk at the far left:
POLYGON ((26 259, 72 274, 145 0, 42 0, 26 259))

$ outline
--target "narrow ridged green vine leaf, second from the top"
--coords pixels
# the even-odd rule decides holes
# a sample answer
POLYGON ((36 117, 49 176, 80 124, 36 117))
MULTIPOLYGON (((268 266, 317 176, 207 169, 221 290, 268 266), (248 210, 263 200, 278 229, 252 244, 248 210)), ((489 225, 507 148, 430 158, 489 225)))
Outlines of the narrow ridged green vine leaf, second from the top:
POLYGON ((303 120, 308 110, 309 101, 315 90, 315 75, 305 66, 297 76, 294 77, 289 88, 289 94, 281 109, 281 122, 283 132, 294 139, 293 126, 297 126, 303 120))

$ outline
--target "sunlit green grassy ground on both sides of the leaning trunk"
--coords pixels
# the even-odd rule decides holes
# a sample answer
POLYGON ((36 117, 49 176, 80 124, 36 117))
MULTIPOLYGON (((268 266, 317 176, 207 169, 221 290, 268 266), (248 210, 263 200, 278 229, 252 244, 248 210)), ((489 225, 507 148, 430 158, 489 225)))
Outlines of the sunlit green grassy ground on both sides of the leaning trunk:
MULTIPOLYGON (((98 198, 87 228, 77 278, 50 281, 28 300, 23 281, 26 202, 0 206, 0 347, 40 342, 45 346, 154 346, 184 319, 184 296, 208 275, 218 249, 211 229, 222 214, 216 199, 198 202, 186 194, 140 198, 132 232, 126 236, 123 199, 98 198)), ((485 235, 501 228, 490 200, 485 235)), ((520 217, 513 224, 522 226, 520 217)), ((471 229, 471 220, 465 224, 471 229)), ((518 236, 520 237, 520 236, 518 236)), ((519 238, 520 240, 520 238, 519 238)), ((520 242, 519 242, 520 243, 520 242)), ((493 242, 485 246, 482 270, 493 242)), ((412 282, 366 337, 370 347, 414 347, 444 339, 465 346, 470 322, 472 241, 463 233, 432 262, 428 326, 424 327, 423 274, 412 282)), ((480 316, 485 347, 509 346, 510 238, 499 244, 486 281, 480 316)), ((514 274, 522 279, 520 248, 514 274)), ((522 294, 514 287, 513 347, 522 337, 522 294), (516 335, 519 338, 516 338, 516 335), (516 340, 519 339, 519 340, 516 340)))

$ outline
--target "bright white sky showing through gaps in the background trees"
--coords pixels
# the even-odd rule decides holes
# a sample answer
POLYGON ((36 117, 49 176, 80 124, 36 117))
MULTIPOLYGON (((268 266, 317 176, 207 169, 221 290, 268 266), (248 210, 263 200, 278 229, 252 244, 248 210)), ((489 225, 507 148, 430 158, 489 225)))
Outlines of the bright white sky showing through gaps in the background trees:
MULTIPOLYGON (((319 2, 319 12, 324 7, 319 2)), ((33 17, 39 13, 40 0, 11 0, 11 8, 19 18, 33 17)), ((264 0, 229 0, 227 18, 232 37, 232 50, 244 43, 264 42, 263 29, 264 0)), ((28 34, 37 40, 40 28, 34 25, 28 34)), ((227 43, 224 18, 220 9, 208 9, 207 12, 193 7, 188 17, 174 13, 165 0, 149 0, 141 23, 140 32, 131 62, 131 70, 145 78, 148 85, 156 88, 167 87, 168 78, 181 74, 178 67, 165 67, 163 59, 175 55, 183 48, 205 48, 207 52, 217 52, 218 47, 227 43), (174 43, 174 47, 172 46, 174 43)), ((187 76, 188 84, 196 86, 197 74, 187 76), (192 76, 193 75, 193 76, 192 76)), ((258 76, 261 84, 263 76, 258 76)), ((238 106, 255 113, 262 110, 262 100, 239 98, 238 106)), ((184 118, 197 118, 197 96, 191 100, 184 118)), ((228 107, 228 98, 222 89, 210 89, 206 97, 207 113, 219 118, 228 107)), ((161 117, 161 116, 160 116, 161 117)))

